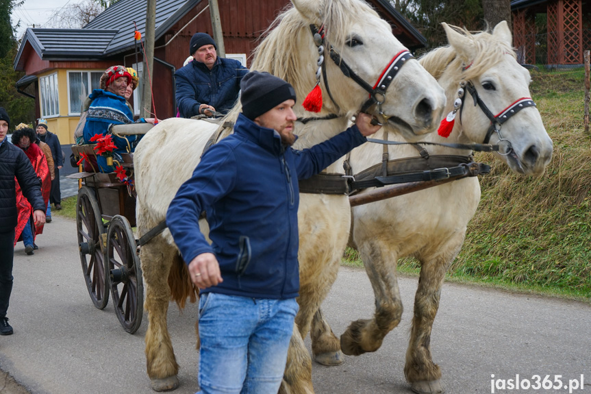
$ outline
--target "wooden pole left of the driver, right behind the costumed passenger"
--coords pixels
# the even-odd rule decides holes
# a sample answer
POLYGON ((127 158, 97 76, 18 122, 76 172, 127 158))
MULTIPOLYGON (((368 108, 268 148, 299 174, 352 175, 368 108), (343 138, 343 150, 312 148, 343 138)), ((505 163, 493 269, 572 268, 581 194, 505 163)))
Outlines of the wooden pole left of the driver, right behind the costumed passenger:
MULTIPOLYGON (((146 8, 146 32, 145 32, 145 49, 144 62, 142 64, 142 108, 140 109, 140 117, 151 118, 150 109, 152 104, 152 74, 154 70, 154 33, 156 25, 156 0, 148 0, 146 8)), ((153 108, 152 108, 153 110, 153 108)))

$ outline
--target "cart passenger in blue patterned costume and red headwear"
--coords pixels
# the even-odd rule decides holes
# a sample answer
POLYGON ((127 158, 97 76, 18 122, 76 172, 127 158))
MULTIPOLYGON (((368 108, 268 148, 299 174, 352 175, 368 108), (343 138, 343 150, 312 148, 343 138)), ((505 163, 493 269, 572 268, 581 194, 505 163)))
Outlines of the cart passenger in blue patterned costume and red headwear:
MULTIPOLYGON (((101 88, 92 90, 89 98, 92 100, 86 114, 84 125, 84 143, 93 143, 90 138, 99 134, 110 134, 113 125, 127 125, 134 123, 134 115, 125 103, 125 90, 131 83, 131 75, 124 66, 109 67, 101 76, 101 88)), ((136 123, 153 123, 153 119, 139 119, 136 123)), ((140 140, 139 136, 112 136, 116 149, 113 150, 115 160, 118 153, 133 152, 140 140)), ((113 166, 107 165, 103 156, 97 156, 97 164, 102 173, 114 171, 113 166)))

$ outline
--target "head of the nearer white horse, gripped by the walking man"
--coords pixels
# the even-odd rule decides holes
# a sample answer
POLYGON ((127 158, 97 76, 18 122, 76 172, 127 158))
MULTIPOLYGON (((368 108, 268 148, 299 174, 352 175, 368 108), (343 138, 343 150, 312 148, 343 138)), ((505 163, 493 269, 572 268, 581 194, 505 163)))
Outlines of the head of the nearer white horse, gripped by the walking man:
POLYGON ((252 69, 286 79, 299 117, 364 111, 407 136, 432 132, 442 88, 412 58, 386 21, 361 0, 292 0, 257 47, 252 69), (319 114, 301 103, 318 84, 319 114))

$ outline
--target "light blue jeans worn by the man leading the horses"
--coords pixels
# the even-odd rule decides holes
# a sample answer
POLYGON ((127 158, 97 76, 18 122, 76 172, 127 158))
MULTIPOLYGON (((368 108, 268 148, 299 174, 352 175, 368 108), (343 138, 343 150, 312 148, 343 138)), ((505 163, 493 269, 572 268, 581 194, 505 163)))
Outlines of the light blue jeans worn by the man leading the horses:
POLYGON ((298 308, 294 298, 202 294, 198 393, 277 394, 298 308))

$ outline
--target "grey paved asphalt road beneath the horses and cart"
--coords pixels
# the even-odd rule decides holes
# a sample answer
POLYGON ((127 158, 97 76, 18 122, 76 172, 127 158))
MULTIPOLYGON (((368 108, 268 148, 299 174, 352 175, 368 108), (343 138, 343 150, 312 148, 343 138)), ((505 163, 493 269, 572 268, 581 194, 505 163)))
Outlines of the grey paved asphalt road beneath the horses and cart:
MULTIPOLYGON (((14 335, 0 337, 0 369, 35 394, 153 393, 143 353, 147 318, 130 335, 119 325, 111 303, 105 310, 92 306, 75 243, 75 223, 55 217, 38 237, 40 249, 34 256, 26 256, 21 243, 17 245, 9 310, 14 335)), ((339 367, 314 365, 316 393, 410 393, 403 365, 416 279, 402 278, 400 286, 407 308, 401 325, 373 354, 348 356, 339 367)), ((573 393, 591 394, 591 306, 457 284, 445 284, 441 298, 431 349, 444 371, 447 393, 490 393, 492 374, 507 380, 518 373, 520 379, 562 375, 563 384, 580 382, 583 374, 583 389, 573 393)), ((342 268, 323 308, 338 335, 352 319, 370 317, 373 293, 364 271, 342 268)), ((192 328, 196 314, 194 305, 180 313, 171 304, 168 312, 181 365, 178 394, 198 389, 192 328)), ((0 393, 8 392, 0 379, 0 393)))

